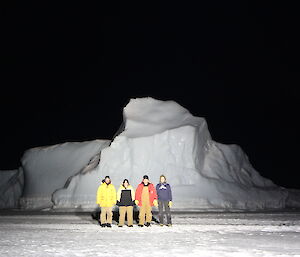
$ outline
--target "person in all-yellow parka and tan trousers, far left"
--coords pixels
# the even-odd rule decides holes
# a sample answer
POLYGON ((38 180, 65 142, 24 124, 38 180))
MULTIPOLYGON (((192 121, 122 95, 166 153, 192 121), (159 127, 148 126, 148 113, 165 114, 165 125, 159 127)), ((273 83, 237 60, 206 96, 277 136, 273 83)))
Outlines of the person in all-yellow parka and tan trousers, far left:
POLYGON ((112 207, 117 202, 117 193, 109 176, 106 176, 104 182, 97 190, 97 204, 101 207, 100 223, 101 227, 111 227, 112 207))

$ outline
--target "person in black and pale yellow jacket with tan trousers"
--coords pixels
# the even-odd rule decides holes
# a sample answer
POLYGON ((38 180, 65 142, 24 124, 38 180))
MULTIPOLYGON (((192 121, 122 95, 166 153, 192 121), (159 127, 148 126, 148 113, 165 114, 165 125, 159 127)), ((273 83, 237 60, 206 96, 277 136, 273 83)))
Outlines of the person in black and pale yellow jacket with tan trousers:
POLYGON ((129 184, 128 179, 124 179, 122 185, 117 192, 117 205, 119 206, 119 227, 123 227, 125 223, 125 215, 127 213, 127 225, 133 227, 133 205, 135 192, 129 184))

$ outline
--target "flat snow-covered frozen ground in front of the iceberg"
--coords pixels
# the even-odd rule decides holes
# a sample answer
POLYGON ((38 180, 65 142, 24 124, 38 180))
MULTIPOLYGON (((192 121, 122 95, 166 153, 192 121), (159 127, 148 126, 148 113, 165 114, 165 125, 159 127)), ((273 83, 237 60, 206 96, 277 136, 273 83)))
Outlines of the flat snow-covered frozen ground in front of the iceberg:
POLYGON ((87 213, 0 213, 0 256, 300 256, 300 212, 173 214, 99 227, 87 213))

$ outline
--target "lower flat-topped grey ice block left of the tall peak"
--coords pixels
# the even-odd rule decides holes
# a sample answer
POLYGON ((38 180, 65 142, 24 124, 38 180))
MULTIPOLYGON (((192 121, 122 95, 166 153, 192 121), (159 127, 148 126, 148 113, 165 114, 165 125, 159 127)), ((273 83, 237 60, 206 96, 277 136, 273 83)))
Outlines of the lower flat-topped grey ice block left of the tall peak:
MULTIPOLYGON (((21 207, 52 207, 53 193, 67 187, 74 176, 95 168, 101 150, 109 143, 108 140, 68 142, 27 150, 21 159, 25 175, 21 207)), ((81 193, 84 195, 84 191, 81 193)))

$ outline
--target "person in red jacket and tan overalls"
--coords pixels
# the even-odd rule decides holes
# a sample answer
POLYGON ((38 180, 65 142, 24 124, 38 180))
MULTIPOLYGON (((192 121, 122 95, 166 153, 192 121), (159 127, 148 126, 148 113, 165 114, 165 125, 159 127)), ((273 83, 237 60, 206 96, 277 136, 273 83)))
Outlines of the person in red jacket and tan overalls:
POLYGON ((147 175, 143 176, 143 181, 138 185, 135 192, 135 204, 140 207, 139 227, 149 227, 152 220, 152 206, 158 206, 157 193, 154 185, 150 183, 147 175))

